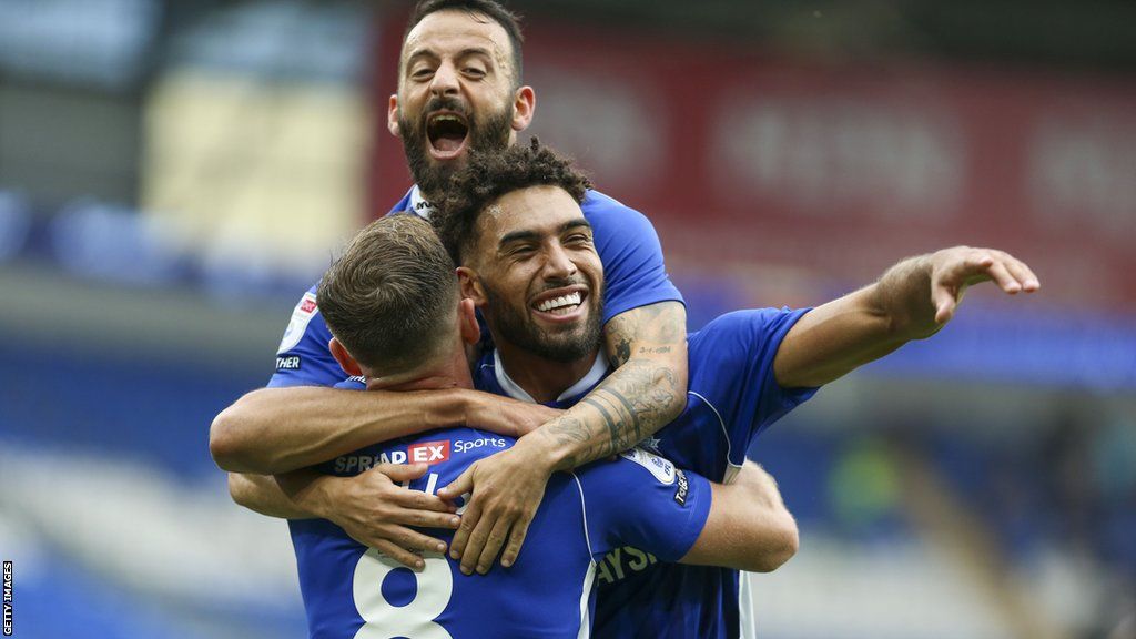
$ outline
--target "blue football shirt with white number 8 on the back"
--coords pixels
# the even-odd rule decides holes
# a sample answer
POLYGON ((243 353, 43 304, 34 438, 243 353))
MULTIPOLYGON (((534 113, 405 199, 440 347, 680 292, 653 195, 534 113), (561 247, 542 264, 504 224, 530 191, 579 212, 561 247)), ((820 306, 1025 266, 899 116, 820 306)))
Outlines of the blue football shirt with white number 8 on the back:
MULTIPOLYGON (((459 428, 368 447, 321 464, 340 476, 376 464, 427 463, 409 486, 433 493, 470 464, 513 440, 459 428)), ((289 526, 308 614, 319 639, 588 637, 596 562, 633 543, 659 561, 687 553, 705 524, 709 482, 642 450, 575 473, 556 473, 510 569, 463 575, 458 563, 425 556, 419 573, 352 540, 325 520, 289 526)), ((441 539, 452 531, 432 530, 441 539)))

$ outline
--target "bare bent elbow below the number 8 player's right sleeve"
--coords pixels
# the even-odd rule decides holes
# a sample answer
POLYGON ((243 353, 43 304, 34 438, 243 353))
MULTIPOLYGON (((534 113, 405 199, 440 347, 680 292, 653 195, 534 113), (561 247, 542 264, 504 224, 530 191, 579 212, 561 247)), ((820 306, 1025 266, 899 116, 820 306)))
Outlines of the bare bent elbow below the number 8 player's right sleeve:
POLYGON ((710 493, 705 526, 680 563, 771 572, 796 554, 796 522, 761 466, 747 460, 734 483, 711 483, 710 493))

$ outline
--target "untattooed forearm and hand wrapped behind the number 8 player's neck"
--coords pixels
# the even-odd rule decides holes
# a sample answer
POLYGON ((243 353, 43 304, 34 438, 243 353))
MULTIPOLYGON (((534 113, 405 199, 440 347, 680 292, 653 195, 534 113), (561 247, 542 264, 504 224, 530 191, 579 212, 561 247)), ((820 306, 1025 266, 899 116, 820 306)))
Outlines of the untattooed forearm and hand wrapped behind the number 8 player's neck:
POLYGON ((209 430, 217 465, 235 473, 286 473, 365 446, 458 424, 515 437, 551 412, 463 389, 392 392, 323 387, 254 390, 209 430))

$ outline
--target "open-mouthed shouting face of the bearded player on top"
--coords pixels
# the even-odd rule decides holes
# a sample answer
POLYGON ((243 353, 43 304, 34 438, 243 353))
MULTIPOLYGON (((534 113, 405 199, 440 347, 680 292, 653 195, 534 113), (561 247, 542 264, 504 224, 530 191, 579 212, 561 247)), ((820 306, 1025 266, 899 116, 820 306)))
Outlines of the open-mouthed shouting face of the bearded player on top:
POLYGON ((516 86, 511 60, 504 28, 482 14, 436 11, 407 34, 387 126, 428 196, 445 188, 469 150, 503 149, 528 126, 535 98, 516 86))

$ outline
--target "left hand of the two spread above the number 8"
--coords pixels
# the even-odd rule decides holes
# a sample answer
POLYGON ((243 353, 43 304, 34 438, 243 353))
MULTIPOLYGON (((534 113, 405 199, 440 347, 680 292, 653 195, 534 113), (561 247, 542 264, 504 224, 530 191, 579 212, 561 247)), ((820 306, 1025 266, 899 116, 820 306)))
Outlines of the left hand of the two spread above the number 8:
POLYGON ((352 478, 326 478, 320 516, 352 539, 411 569, 423 569, 412 550, 445 553, 445 543, 407 526, 456 529, 460 517, 444 500, 399 482, 423 476, 426 464, 379 464, 352 478))

